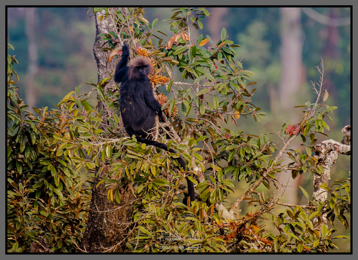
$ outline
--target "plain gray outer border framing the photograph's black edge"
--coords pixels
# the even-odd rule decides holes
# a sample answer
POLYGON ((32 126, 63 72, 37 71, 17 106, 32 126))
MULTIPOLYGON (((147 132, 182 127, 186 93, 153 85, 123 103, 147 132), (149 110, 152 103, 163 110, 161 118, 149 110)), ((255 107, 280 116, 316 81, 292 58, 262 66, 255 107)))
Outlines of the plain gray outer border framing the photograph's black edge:
MULTIPOLYGON (((29 5, 29 2, 27 2, 27 1, 25 1, 25 0, 20 0, 20 1, 16 1, 15 3, 13 2, 13 3, 11 3, 10 1, 8 1, 8 3, 10 3, 10 4, 12 4, 12 5, 9 5, 9 6, 15 6, 15 5, 29 5), (15 4, 15 5, 14 5, 15 4)), ((83 5, 84 4, 84 2, 83 1, 67 1, 67 0, 63 0, 63 1, 61 1, 61 3, 62 3, 62 5, 66 5, 66 6, 68 6, 68 5, 74 5, 74 4, 77 4, 77 5, 83 5)), ((85 4, 87 4, 88 6, 89 6, 89 4, 97 4, 98 2, 97 1, 86 1, 86 3, 85 4)), ((108 6, 109 6, 109 4, 112 4, 112 5, 122 5, 122 4, 128 4, 128 1, 106 1, 106 3, 108 3, 108 6)), ((162 5, 162 6, 168 6, 168 3, 170 3, 170 2, 168 2, 168 1, 163 1, 163 0, 155 0, 155 1, 153 1, 153 2, 148 2, 148 1, 143 1, 143 0, 137 0, 136 2, 135 2, 137 5, 141 5, 141 4, 143 4, 143 5, 146 5, 146 4, 151 4, 151 6, 154 6, 154 5, 162 5)), ((175 3, 175 2, 172 2, 172 3, 175 3)), ((180 1, 180 5, 182 5, 182 6, 185 6, 186 4, 192 4, 193 3, 193 0, 191 0, 191 1, 188 1, 188 0, 181 0, 180 1)), ((204 4, 205 6, 209 6, 209 5, 212 5, 212 6, 215 6, 215 5, 217 5, 218 4, 218 1, 213 1, 213 0, 206 0, 206 1, 195 1, 195 3, 198 3, 198 4, 204 4)), ((224 2, 224 3, 226 3, 226 4, 232 4, 231 6, 229 6, 229 7, 232 7, 233 5, 240 5, 240 4, 243 4, 243 5, 245 5, 245 4, 247 4, 247 3, 250 3, 251 5, 253 5, 253 6, 255 6, 255 5, 267 5, 268 4, 268 2, 267 1, 263 1, 263 0, 251 0, 250 2, 246 2, 246 1, 233 1, 233 0, 227 0, 226 2, 224 2)), ((297 2, 291 2, 291 3, 287 3, 287 1, 284 1, 284 0, 271 0, 270 2, 269 2, 271 5, 276 5, 276 6, 283 6, 283 5, 292 5, 292 6, 297 6, 297 5, 295 5, 297 2)), ((339 2, 337 2, 337 1, 332 1, 332 0, 329 0, 329 1, 324 1, 324 2, 322 2, 322 1, 317 1, 317 0, 310 0, 310 1, 308 1, 308 0, 301 0, 301 1, 299 1, 299 4, 300 4, 300 6, 302 6, 302 5, 322 5, 322 3, 324 3, 325 5, 337 5, 337 3, 338 4, 340 4, 340 5, 353 5, 353 7, 356 7, 356 6, 358 6, 358 4, 357 3, 355 3, 355 5, 354 5, 354 3, 353 3, 353 0, 341 0, 341 1, 339 1, 339 2)), ((49 6, 49 1, 43 1, 43 0, 35 0, 35 1, 32 1, 32 4, 33 5, 47 5, 47 6, 49 6)), ((2 20, 3 20, 3 24, 5 24, 5 26, 6 26, 6 19, 7 19, 7 17, 6 17, 6 5, 4 6, 5 8, 2 8, 1 9, 1 13, 2 13, 2 15, 1 15, 1 17, 3 17, 2 18, 2 20)), ((218 6, 218 7, 220 7, 220 6, 218 6)), ((353 17, 355 17, 355 18, 357 18, 357 11, 354 9, 354 8, 352 8, 352 10, 353 10, 353 17)), ((353 24, 354 25, 356 25, 357 24, 357 19, 353 19, 353 24)), ((353 25, 352 24, 352 25, 353 25)), ((352 26, 352 28, 353 28, 353 26, 352 26)), ((6 28, 2 28, 2 30, 5 30, 5 32, 6 32, 6 28)), ((5 34, 5 32, 4 32, 4 34, 5 34)), ((357 46, 357 29, 355 29, 355 32, 352 30, 352 32, 353 32, 353 34, 352 34, 352 43, 354 42, 355 43, 355 45, 353 45, 353 44, 351 44, 351 53, 352 53, 352 69, 351 69, 351 72, 353 72, 353 71, 357 71, 357 52, 355 51, 355 50, 353 50, 353 46, 357 46)), ((5 40, 7 41, 7 39, 6 39, 6 36, 5 36, 5 40)), ((5 71, 5 63, 2 63, 3 65, 1 66, 3 69, 1 69, 1 71, 5 71)), ((353 73, 351 73, 351 74, 353 74, 353 73)), ((3 74, 4 75, 4 74, 3 74)), ((6 76, 5 76, 6 77, 6 76)), ((6 80, 6 78, 5 78, 5 80, 6 80)), ((353 101, 353 97, 354 98, 356 98, 357 97, 357 95, 358 95, 358 84, 357 84, 357 78, 356 77, 354 77, 354 78, 352 78, 352 83, 351 83, 351 86, 355 86, 355 87, 353 87, 353 89, 352 89, 352 94, 353 95, 351 95, 351 104, 352 104, 352 111, 358 111, 358 102, 352 102, 353 101)), ((5 91, 5 89, 4 89, 4 91, 5 91)), ((6 94, 5 94, 5 97, 6 97, 6 94)), ((1 114, 0 116, 1 116, 1 118, 3 118, 2 120, 4 120, 3 122, 6 122, 5 120, 5 111, 6 111, 6 101, 4 102, 4 104, 5 104, 5 107, 4 107, 4 114, 1 114)), ((352 114, 351 114, 351 122, 352 122, 352 131, 354 131, 355 132, 355 126, 357 125, 356 123, 353 123, 353 117, 352 117, 352 114)), ((6 124, 4 124, 4 128, 3 129, 1 129, 1 133, 3 133, 2 135, 5 137, 6 136, 6 124)), ((352 134, 352 136, 354 136, 353 134, 352 134)), ((4 138, 4 139, 1 139, 1 147, 3 147, 3 150, 1 151, 1 156, 0 156, 0 159, 1 159, 1 162, 3 162, 3 163, 1 163, 2 165, 4 165, 4 177, 6 177, 6 175, 5 175, 5 172, 6 172, 6 161, 5 161, 5 151, 6 151, 6 146, 5 146, 5 140, 6 140, 6 138, 4 138), (4 145, 4 146, 3 146, 4 145)), ((352 146, 353 147, 355 147, 355 145, 353 145, 353 143, 355 143, 355 144, 357 144, 357 141, 355 141, 355 139, 354 138, 352 138, 352 146)), ((355 156, 355 154, 354 154, 354 152, 352 151, 352 155, 354 155, 355 156)), ((354 160, 352 160, 351 159, 351 162, 353 162, 354 160)), ((357 187, 357 180, 356 180, 356 178, 353 178, 353 171, 352 171, 352 164, 351 164, 351 178, 352 178, 352 181, 353 181, 353 183, 352 183, 352 187, 357 187)), ((6 181, 4 182, 4 185, 5 185, 5 189, 4 189, 4 191, 5 191, 5 198, 6 198, 6 181)), ((353 190, 353 189, 352 189, 353 190)), ((355 207, 356 206, 356 198, 357 198, 357 195, 356 195, 356 193, 355 192, 352 192, 352 201, 353 201, 353 203, 354 203, 354 206, 353 206, 353 209, 352 209, 352 219, 357 219, 356 217, 355 218, 353 218, 353 216, 357 216, 356 214, 357 214, 357 207, 355 207)), ((3 199, 3 200, 1 200, 1 208, 5 208, 6 206, 6 204, 5 204, 5 202, 6 202, 6 199, 3 199)), ((6 220, 5 220, 5 213, 6 211, 4 210, 4 215, 2 215, 1 216, 1 219, 3 219, 3 221, 1 221, 1 222, 3 222, 4 223, 4 225, 3 226, 1 226, 1 230, 2 230, 2 232, 1 233, 3 233, 4 234, 4 236, 1 236, 2 237, 2 239, 0 240, 1 241, 1 244, 2 245, 4 245, 4 259, 22 259, 24 256, 23 255, 15 255, 15 254, 8 254, 8 255, 5 255, 5 252, 6 252, 6 244, 5 244, 5 239, 6 239, 6 229, 5 229, 5 227, 6 227, 6 220)), ((349 255, 349 254, 342 254, 342 255, 344 255, 344 258, 345 259, 357 259, 357 256, 358 256, 358 253, 356 252, 356 248, 355 248, 355 246, 357 246, 357 237, 355 237, 355 236, 353 236, 353 234, 357 234, 357 231, 358 231, 358 229, 357 229, 357 223, 355 223, 355 222, 351 222, 351 228, 352 228, 352 236, 351 236, 351 240, 352 240, 352 243, 353 243, 353 246, 351 247, 351 251, 354 251, 354 254, 351 254, 351 255, 349 255), (355 257, 354 257, 354 255, 355 255, 355 257), (353 258, 354 257, 354 258, 353 258)), ((183 255, 182 254, 180 254, 180 255, 170 255, 170 256, 165 256, 165 255, 154 255, 154 254, 147 254, 145 257, 148 257, 149 256, 149 258, 151 259, 152 257, 153 257, 153 259, 165 259, 165 258, 168 258, 168 257, 170 257, 170 259, 173 259, 173 260, 176 260, 176 259, 182 259, 183 258, 183 255)), ((322 255, 321 255, 322 256, 322 255)), ((46 255, 43 255, 43 256, 40 256, 39 257, 39 255, 33 255, 33 257, 34 258, 36 258, 36 259, 47 259, 48 258, 48 255, 46 254, 46 255)), ((29 255, 29 254, 27 254, 26 256, 25 256, 25 258, 26 259, 32 259, 33 258, 31 255, 29 255)), ((69 255, 67 255, 66 254, 66 258, 69 258, 69 259, 75 259, 75 257, 76 256, 74 256, 74 255, 71 255, 71 256, 69 256, 69 255)), ((78 256, 77 256, 78 257, 78 256)), ((86 259, 96 259, 97 258, 97 256, 96 255, 93 255, 93 254, 90 254, 90 255, 86 255, 85 256, 86 257, 86 259)), ((112 255, 108 255, 108 257, 111 257, 112 259, 113 258, 116 258, 116 257, 113 257, 112 255)), ((143 256, 141 256, 141 255, 137 255, 137 256, 134 256, 134 254, 131 254, 131 256, 130 256, 131 258, 137 258, 138 257, 138 259, 142 259, 143 258, 143 256)), ((194 258, 200 258, 200 257, 202 257, 202 256, 195 256, 195 255, 185 255, 185 258, 186 259, 194 259, 194 258)), ((205 259, 217 259, 217 255, 214 253, 214 254, 211 254, 211 255, 209 255, 209 254, 205 254, 205 259)), ((262 257, 264 257, 265 259, 267 259, 267 258, 269 258, 269 259, 277 259, 277 258, 281 258, 281 259, 286 259, 286 257, 287 257, 287 255, 284 255, 284 254, 273 254, 272 253, 272 256, 270 255, 270 254, 265 254, 264 256, 258 256, 258 255, 256 255, 256 254, 250 254, 250 256, 249 255, 245 255, 245 258, 246 257, 250 257, 250 259, 262 259, 262 257), (280 256, 279 256, 280 255, 280 256)), ((290 258, 291 259, 300 259, 302 257, 302 255, 298 255, 298 254, 292 254, 292 255, 290 255, 290 258)), ((304 256, 305 257, 305 259, 317 259, 319 256, 318 255, 316 255, 316 254, 310 254, 310 255, 305 255, 304 256)), ((57 254, 52 254, 51 255, 51 258, 52 259, 54 259, 54 260, 61 260, 62 258, 63 258, 63 255, 62 254, 59 254, 59 255, 57 255, 57 254)), ((324 255, 324 258, 326 259, 326 260, 330 260, 330 259, 337 259, 337 254, 325 254, 324 255)))

